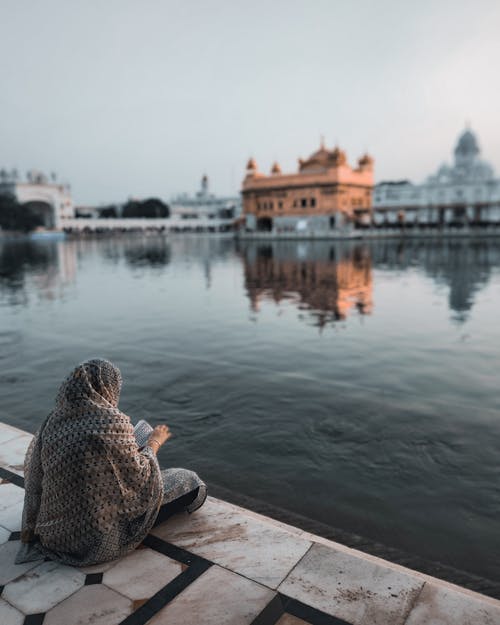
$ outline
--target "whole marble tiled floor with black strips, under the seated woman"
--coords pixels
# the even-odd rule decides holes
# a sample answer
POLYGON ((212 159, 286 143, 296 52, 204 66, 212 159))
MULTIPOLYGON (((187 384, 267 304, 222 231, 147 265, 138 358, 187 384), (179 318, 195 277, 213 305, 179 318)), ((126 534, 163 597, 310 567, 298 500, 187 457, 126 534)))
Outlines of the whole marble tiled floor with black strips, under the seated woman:
POLYGON ((15 565, 30 439, 0 423, 1 625, 500 625, 500 601, 214 498, 121 560, 15 565))

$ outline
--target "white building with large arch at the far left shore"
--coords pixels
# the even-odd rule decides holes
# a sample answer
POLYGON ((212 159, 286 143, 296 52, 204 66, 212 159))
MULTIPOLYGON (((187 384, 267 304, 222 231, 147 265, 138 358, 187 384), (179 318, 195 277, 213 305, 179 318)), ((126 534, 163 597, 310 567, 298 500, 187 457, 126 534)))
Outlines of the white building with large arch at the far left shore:
POLYGON ((0 193, 10 193, 20 204, 28 205, 42 217, 45 228, 64 228, 65 220, 75 216, 70 188, 57 183, 55 174, 49 181, 41 172, 31 170, 22 181, 15 170, 1 170, 0 193))

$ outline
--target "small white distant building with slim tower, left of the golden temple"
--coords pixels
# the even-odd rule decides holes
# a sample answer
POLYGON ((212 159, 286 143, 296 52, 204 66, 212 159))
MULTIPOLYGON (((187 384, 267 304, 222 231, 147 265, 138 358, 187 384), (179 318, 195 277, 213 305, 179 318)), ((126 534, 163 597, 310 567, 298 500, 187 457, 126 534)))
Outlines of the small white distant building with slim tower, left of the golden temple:
POLYGON ((241 200, 238 196, 223 197, 210 193, 208 176, 205 175, 196 195, 184 193, 172 199, 170 214, 180 219, 234 220, 241 214, 241 200))

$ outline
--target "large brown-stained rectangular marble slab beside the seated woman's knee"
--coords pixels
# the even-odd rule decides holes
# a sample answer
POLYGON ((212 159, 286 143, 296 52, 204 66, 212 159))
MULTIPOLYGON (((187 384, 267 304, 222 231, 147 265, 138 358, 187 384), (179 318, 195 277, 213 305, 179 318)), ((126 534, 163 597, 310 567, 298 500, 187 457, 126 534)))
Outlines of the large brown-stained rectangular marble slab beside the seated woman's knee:
POLYGON ((311 546, 211 498, 194 514, 172 517, 152 533, 269 588, 276 588, 311 546))

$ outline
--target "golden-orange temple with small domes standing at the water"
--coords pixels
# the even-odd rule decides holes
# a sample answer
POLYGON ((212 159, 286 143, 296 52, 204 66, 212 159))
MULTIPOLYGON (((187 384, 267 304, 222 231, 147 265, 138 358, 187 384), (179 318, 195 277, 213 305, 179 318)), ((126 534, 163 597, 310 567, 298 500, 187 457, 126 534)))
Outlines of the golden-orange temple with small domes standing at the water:
POLYGON ((299 159, 295 174, 283 174, 274 163, 268 176, 252 158, 243 181, 243 213, 248 230, 325 231, 369 222, 373 159, 365 154, 352 168, 336 147, 299 159))

